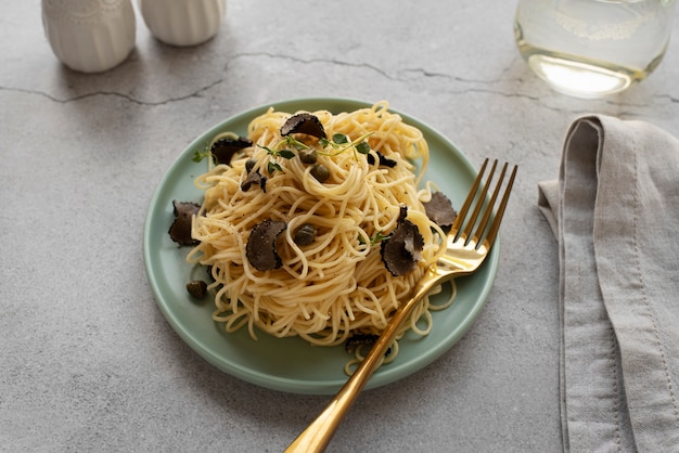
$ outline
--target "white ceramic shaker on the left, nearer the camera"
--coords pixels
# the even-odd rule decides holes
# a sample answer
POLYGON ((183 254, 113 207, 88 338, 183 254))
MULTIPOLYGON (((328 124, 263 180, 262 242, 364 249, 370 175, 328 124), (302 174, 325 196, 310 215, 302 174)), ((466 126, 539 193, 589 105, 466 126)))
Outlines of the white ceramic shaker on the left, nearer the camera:
POLYGON ((111 69, 134 48, 130 0, 42 0, 42 25, 56 57, 82 73, 111 69))

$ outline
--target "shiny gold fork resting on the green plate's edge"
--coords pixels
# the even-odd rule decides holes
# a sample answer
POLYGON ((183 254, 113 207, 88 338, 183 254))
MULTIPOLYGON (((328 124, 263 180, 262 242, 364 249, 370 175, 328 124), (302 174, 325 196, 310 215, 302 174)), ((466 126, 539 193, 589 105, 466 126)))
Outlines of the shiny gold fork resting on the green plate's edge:
POLYGON ((325 446, 337 430, 340 423, 354 401, 356 401, 358 393, 366 386, 370 376, 372 376, 373 372, 382 362, 382 358, 392 345, 400 325, 411 313, 418 301, 433 287, 454 276, 471 274, 484 262, 498 235, 504 208, 507 207, 507 202, 514 183, 514 177, 516 176, 516 166, 514 166, 492 222, 488 224, 492 207, 500 194, 508 164, 504 164, 502 167, 489 200, 487 200, 488 186, 495 174, 498 161, 495 160, 492 163, 488 181, 479 190, 487 165, 488 159, 486 158, 464 204, 458 212, 458 217, 450 232, 446 236, 446 254, 427 269, 424 276, 413 288, 408 301, 402 303, 394 313, 386 328, 382 332, 380 338, 375 341, 374 346, 361 361, 351 377, 349 377, 337 394, 328 406, 325 406, 325 410, 323 410, 297 439, 290 444, 285 452, 310 453, 325 450, 325 446), (474 208, 470 211, 472 204, 474 204, 474 208), (483 215, 482 210, 484 210, 483 215), (474 231, 474 234, 472 234, 472 231, 474 231))

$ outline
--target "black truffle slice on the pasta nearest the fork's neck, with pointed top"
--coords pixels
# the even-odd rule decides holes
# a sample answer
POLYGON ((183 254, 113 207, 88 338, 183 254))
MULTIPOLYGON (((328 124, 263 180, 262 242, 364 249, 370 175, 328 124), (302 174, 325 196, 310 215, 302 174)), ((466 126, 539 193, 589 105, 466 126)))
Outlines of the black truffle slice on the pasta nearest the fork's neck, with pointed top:
POLYGON ((406 219, 406 209, 401 208, 401 217, 396 228, 382 242, 382 261, 394 276, 405 275, 418 267, 422 258, 424 238, 418 225, 406 219))

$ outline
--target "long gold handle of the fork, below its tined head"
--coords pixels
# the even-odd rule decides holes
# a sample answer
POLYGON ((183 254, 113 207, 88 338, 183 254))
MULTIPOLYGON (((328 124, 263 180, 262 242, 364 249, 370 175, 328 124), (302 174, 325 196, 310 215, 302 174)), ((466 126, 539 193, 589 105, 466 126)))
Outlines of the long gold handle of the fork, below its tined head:
POLYGON ((358 365, 354 374, 342 386, 337 394, 330 401, 323 412, 304 430, 293 443, 287 446, 285 453, 313 453, 322 452, 337 430, 340 423, 356 401, 370 376, 377 368, 381 359, 386 353, 394 340, 398 328, 406 318, 412 312, 418 301, 428 293, 433 282, 422 279, 413 288, 410 299, 402 303, 389 320, 387 326, 370 349, 366 358, 358 365))

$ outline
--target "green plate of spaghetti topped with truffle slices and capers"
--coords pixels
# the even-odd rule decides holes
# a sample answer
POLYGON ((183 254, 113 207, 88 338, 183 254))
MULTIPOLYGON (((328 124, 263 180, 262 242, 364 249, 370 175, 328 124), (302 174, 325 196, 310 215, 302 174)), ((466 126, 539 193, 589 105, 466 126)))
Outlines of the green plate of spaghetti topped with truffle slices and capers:
MULTIPOLYGON (((217 368, 334 393, 444 251, 434 198, 461 206, 475 174, 448 139, 386 102, 253 108, 197 137, 162 178, 143 232, 151 288, 180 338, 217 368)), ((498 255, 422 300, 368 388, 423 368, 469 331, 498 255)))

